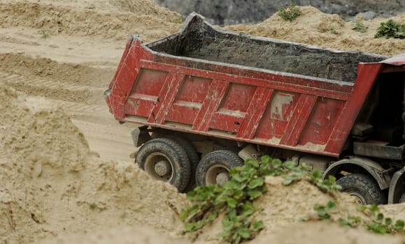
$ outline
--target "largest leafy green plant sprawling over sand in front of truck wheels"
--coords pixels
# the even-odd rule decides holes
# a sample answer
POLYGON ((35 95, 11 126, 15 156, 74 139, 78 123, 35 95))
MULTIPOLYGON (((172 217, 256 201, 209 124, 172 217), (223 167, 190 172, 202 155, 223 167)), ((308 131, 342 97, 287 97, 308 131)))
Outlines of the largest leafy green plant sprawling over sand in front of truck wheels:
POLYGON ((261 210, 254 201, 267 190, 266 176, 283 176, 284 185, 306 180, 324 192, 340 189, 333 176, 322 181, 322 173, 316 169, 311 171, 308 165, 297 166, 296 162, 282 162, 267 155, 260 161, 246 160, 243 167, 234 167, 229 174, 231 178, 223 187, 206 185, 187 193, 187 199, 193 205, 180 213, 180 219, 185 223, 183 234, 201 229, 224 213, 222 241, 240 243, 253 239, 264 228, 263 222, 256 220, 261 210))

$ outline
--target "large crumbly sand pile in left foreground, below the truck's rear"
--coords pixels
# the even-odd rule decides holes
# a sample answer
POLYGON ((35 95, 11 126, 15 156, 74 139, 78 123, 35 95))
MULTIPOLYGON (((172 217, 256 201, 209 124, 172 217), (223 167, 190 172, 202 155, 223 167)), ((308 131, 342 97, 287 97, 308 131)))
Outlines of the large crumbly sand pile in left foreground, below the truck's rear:
POLYGON ((184 195, 143 171, 105 162, 61 109, 0 86, 0 242, 145 224, 178 227, 184 195))

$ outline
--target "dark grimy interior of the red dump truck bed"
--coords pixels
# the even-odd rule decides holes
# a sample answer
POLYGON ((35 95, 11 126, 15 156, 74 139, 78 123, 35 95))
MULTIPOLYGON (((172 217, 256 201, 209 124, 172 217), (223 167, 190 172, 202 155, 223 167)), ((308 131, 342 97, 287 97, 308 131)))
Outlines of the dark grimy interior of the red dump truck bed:
POLYGON ((197 16, 191 15, 187 19, 187 26, 180 33, 146 46, 155 52, 174 56, 344 82, 355 82, 358 63, 378 62, 387 58, 376 54, 339 52, 283 40, 220 31, 197 16))

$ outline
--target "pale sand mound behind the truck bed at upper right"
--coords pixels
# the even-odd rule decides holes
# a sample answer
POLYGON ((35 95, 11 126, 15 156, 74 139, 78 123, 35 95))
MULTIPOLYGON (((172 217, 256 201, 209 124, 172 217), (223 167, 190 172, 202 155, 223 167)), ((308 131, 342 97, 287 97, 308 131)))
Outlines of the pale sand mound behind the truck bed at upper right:
MULTIPOLYGON (((359 50, 384 55, 405 52, 404 40, 374 38, 374 34, 385 19, 363 21, 369 28, 365 33, 353 30, 355 23, 344 22, 339 15, 329 15, 311 6, 301 7, 302 15, 292 22, 286 22, 274 14, 262 23, 227 26, 232 31, 246 32, 255 36, 265 36, 307 43, 339 50, 359 50)), ((392 17, 392 20, 405 23, 405 13, 392 17)))

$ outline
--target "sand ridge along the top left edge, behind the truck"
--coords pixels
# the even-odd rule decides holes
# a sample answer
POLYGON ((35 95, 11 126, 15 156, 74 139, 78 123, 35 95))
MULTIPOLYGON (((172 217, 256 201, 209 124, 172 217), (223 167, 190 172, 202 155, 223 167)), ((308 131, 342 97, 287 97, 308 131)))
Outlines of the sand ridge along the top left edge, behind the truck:
POLYGON ((41 31, 43 38, 64 33, 123 40, 132 33, 139 33, 143 40, 150 41, 176 32, 181 22, 178 13, 150 0, 102 1, 101 6, 109 8, 101 7, 101 10, 97 1, 82 4, 86 8, 42 1, 0 3, 0 26, 35 28, 41 31), (111 8, 111 5, 116 7, 111 8))

